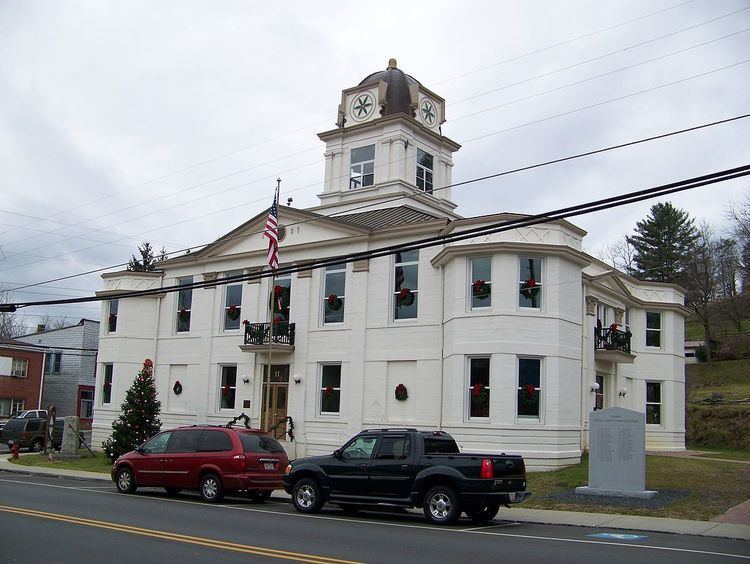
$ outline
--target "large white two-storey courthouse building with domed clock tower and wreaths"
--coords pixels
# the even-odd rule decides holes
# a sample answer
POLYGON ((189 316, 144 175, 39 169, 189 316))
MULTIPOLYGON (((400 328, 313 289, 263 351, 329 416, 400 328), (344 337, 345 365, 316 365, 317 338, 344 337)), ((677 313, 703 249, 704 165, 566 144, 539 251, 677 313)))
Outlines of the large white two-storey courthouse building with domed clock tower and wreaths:
MULTIPOLYGON (((459 146, 441 134, 444 112, 444 100, 393 60, 344 90, 336 129, 319 135, 321 205, 279 208, 281 266, 523 218, 454 212, 459 146)), ((292 456, 331 452, 362 428, 409 426, 554 468, 580 459, 589 413, 615 405, 647 413, 647 448, 685 448, 684 291, 585 254, 585 232, 573 224, 277 278, 269 381, 271 280, 221 283, 267 270, 266 218, 160 271, 102 276, 103 297, 185 289, 103 302, 94 444, 151 358, 165 427, 245 413, 269 428, 291 416, 292 456), (204 281, 217 283, 188 286, 204 281)))

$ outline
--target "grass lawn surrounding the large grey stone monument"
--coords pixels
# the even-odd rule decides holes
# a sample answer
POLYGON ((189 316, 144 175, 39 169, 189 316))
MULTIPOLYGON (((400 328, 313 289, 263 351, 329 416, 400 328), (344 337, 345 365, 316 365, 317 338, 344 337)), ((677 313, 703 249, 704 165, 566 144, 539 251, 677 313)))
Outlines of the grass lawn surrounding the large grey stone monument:
POLYGON ((521 507, 709 521, 730 507, 750 499, 750 464, 647 456, 646 489, 670 490, 681 494, 674 501, 660 507, 638 507, 638 502, 632 506, 612 506, 598 504, 596 498, 589 498, 585 505, 581 505, 578 499, 568 501, 566 498, 553 497, 555 494, 569 492, 576 486, 585 486, 587 482, 587 457, 584 457, 581 464, 562 470, 530 473, 528 488, 534 495, 521 507))

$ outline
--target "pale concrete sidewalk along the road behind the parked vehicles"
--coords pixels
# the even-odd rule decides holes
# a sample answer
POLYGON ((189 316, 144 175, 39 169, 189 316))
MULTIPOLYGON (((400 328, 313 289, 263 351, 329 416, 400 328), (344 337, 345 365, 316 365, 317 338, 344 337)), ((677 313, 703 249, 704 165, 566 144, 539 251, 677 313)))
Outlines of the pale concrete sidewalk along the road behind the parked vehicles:
MULTIPOLYGON (((111 479, 107 474, 83 472, 80 470, 17 466, 8 461, 9 456, 10 455, 8 454, 0 454, 0 472, 56 476, 79 480, 99 480, 111 483, 111 479)), ((291 497, 283 490, 276 490, 273 493, 272 499, 277 501, 289 501, 291 497)), ((717 517, 716 521, 685 521, 663 517, 641 517, 635 515, 614 515, 607 513, 578 513, 574 511, 548 511, 543 509, 523 509, 522 507, 503 509, 500 512, 500 518, 508 521, 517 521, 519 523, 575 525, 605 529, 653 531, 660 533, 750 540, 750 524, 736 524, 737 519, 734 519, 735 516, 731 515, 734 512, 738 512, 737 517, 742 517, 743 519, 747 518, 747 522, 750 522, 750 500, 730 509, 725 515, 717 517), (732 517, 731 520, 734 522, 722 522, 720 520, 728 515, 732 517)))

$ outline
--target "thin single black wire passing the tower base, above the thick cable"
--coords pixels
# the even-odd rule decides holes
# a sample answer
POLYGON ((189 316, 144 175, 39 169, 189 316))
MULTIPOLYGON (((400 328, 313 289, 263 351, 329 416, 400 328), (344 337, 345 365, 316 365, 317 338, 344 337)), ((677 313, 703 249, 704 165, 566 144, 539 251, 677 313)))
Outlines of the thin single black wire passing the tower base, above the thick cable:
MULTIPOLYGON (((563 163, 563 162, 566 162, 566 161, 571 161, 571 160, 574 160, 574 159, 579 159, 579 158, 582 158, 582 157, 588 157, 588 156, 596 155, 596 154, 599 154, 599 153, 605 153, 605 152, 608 152, 608 151, 613 151, 615 149, 622 149, 622 148, 630 147, 630 146, 633 146, 633 145, 639 145, 639 144, 642 144, 642 143, 647 143, 647 142, 650 142, 650 141, 655 141, 655 140, 659 140, 659 139, 665 139, 665 138, 672 137, 672 136, 675 136, 675 135, 680 135, 680 134, 683 134, 683 133, 689 133, 689 132, 692 132, 692 131, 697 131, 697 130, 700 130, 700 129, 705 129, 705 128, 713 127, 713 126, 716 126, 716 125, 721 125, 721 124, 730 123, 730 122, 741 120, 741 119, 746 119, 748 117, 750 117, 750 113, 749 114, 742 114, 742 115, 739 115, 739 116, 734 116, 734 117, 731 117, 731 118, 726 118, 726 119, 723 119, 723 120, 718 120, 718 121, 714 121, 714 122, 710 122, 710 123, 704 123, 704 124, 701 124, 701 125, 696 125, 696 126, 693 126, 693 127, 688 127, 688 128, 685 128, 685 129, 671 131, 671 132, 668 132, 668 133, 662 133, 662 134, 659 134, 659 135, 654 135, 654 136, 651 136, 651 137, 646 137, 646 138, 638 139, 638 140, 635 140, 635 141, 628 141, 626 143, 620 143, 618 145, 611 145, 609 147, 603 147, 603 148, 600 148, 600 149, 594 149, 594 150, 591 150, 591 151, 586 151, 586 152, 583 152, 583 153, 577 153, 577 154, 569 155, 569 156, 566 156, 566 157, 560 157, 560 158, 557 158, 557 159, 552 159, 552 160, 549 160, 549 161, 544 161, 544 162, 540 162, 540 163, 536 163, 536 164, 532 164, 532 165, 527 165, 527 166, 518 167, 518 168, 514 168, 514 169, 510 169, 510 170, 505 170, 505 171, 502 171, 502 172, 497 172, 497 173, 494 173, 494 174, 489 174, 489 175, 485 175, 485 176, 473 178, 473 179, 470 179, 470 180, 465 180, 465 181, 462 181, 462 182, 456 182, 456 183, 450 184, 448 186, 444 186, 442 188, 435 188, 433 190, 433 192, 438 192, 438 191, 441 191, 441 190, 447 190, 449 188, 456 188, 456 187, 459 187, 459 186, 464 186, 464 185, 467 185, 467 184, 472 184, 474 182, 481 182, 481 181, 489 180, 489 179, 492 179, 492 178, 499 178, 501 176, 507 176, 507 175, 510 175, 510 174, 515 174, 515 173, 519 173, 519 172, 533 170, 533 169, 544 167, 544 166, 549 166, 549 165, 553 165, 553 164, 559 164, 559 163, 563 163)), ((397 201, 397 200, 400 200, 400 199, 404 199, 406 197, 407 196, 401 196, 401 195, 394 196, 393 198, 389 198, 389 199, 386 199, 386 200, 383 200, 383 201, 379 201, 377 204, 366 204, 366 205, 363 205, 363 206, 358 206, 358 207, 355 207, 353 209, 347 210, 346 212, 338 212, 338 213, 331 214, 331 216, 325 216, 325 217, 337 217, 338 215, 346 215, 346 214, 352 213, 353 211, 360 211, 362 209, 365 209, 365 208, 368 208, 368 207, 371 207, 371 206, 374 206, 374 205, 381 205, 382 203, 389 203, 389 202, 397 201)), ((287 224, 287 227, 292 227, 292 226, 296 226, 296 225, 302 225, 304 223, 309 223, 309 222, 312 222, 312 221, 319 221, 319 218, 302 220, 302 221, 290 223, 290 224, 287 224)), ((250 233, 250 234, 244 234, 242 236, 237 236, 236 238, 245 238, 245 237, 248 237, 250 235, 257 235, 257 234, 261 234, 261 233, 262 233, 262 231, 258 231, 258 232, 255 232, 255 233, 250 233)), ((234 239, 234 238, 229 238, 229 239, 226 239, 226 240, 232 240, 232 239, 234 239)), ((202 248, 202 247, 208 246, 210 244, 211 243, 205 243, 205 244, 202 244, 202 245, 193 245, 190 248, 179 249, 177 251, 172 251, 170 253, 167 253, 167 255, 184 253, 185 251, 189 251, 189 250, 192 250, 192 249, 202 248)), ((111 265, 111 266, 108 266, 108 267, 103 267, 103 268, 100 268, 100 269, 89 270, 89 271, 86 271, 86 272, 83 272, 83 273, 72 274, 72 275, 69 275, 69 276, 62 276, 62 277, 59 277, 59 278, 54 278, 54 279, 46 280, 46 281, 43 281, 43 282, 36 282, 34 284, 26 284, 24 286, 20 286, 20 287, 17 287, 17 288, 11 288, 11 289, 13 291, 16 291, 16 290, 22 290, 22 289, 25 289, 25 288, 32 288, 32 287, 35 287, 35 286, 41 286, 41 285, 52 283, 52 282, 59 282, 61 280, 67 280, 67 279, 76 278, 76 277, 79 277, 79 276, 86 276, 86 275, 89 275, 89 274, 96 274, 97 272, 104 272, 105 270, 110 270, 112 268, 120 268, 120 267, 123 267, 123 266, 127 266, 128 264, 129 263, 115 264, 115 265, 111 265)))

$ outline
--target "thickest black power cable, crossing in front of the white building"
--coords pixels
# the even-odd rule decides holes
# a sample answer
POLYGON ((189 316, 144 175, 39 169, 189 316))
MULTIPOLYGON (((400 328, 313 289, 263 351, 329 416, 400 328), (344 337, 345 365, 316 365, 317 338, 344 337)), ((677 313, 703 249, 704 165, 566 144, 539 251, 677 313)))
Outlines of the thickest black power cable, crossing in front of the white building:
POLYGON ((4 304, 0 306, 0 311, 3 311, 3 310, 15 311, 16 308, 40 306, 40 305, 63 305, 63 304, 73 304, 73 303, 97 302, 97 301, 113 300, 113 299, 127 299, 127 298, 134 298, 134 297, 140 297, 140 296, 150 296, 154 294, 173 293, 173 292, 179 292, 180 290, 193 289, 193 288, 209 288, 209 287, 215 287, 215 286, 223 286, 231 282, 259 280, 259 279, 268 278, 271 276, 281 276, 281 275, 286 275, 286 274, 292 274, 295 272, 315 270, 318 268, 323 268, 325 266, 330 266, 334 264, 349 263, 349 262, 355 262, 355 261, 365 260, 365 259, 369 260, 373 258, 380 258, 380 257, 395 254, 397 252, 419 250, 423 248, 434 247, 437 245, 447 245, 450 243, 457 243, 460 241, 465 241, 467 239, 473 239, 475 237, 491 235, 491 234, 500 233, 503 231, 510 231, 512 229, 518 229, 519 227, 529 227, 529 226, 538 225, 541 223, 549 223, 550 221, 566 219, 568 217, 575 217, 578 215, 588 214, 588 213, 592 213, 596 211, 602 211, 605 209, 611 209, 611 208, 639 202, 642 200, 660 197, 660 196, 664 196, 667 194, 673 194, 676 192, 690 190, 692 188, 698 188, 700 186, 706 186, 710 184, 715 184, 717 182, 724 182, 726 180, 731 180, 734 178, 741 178, 745 176, 750 176, 750 164, 743 165, 740 167, 735 167, 732 169, 726 169, 723 171, 714 172, 714 173, 710 173, 710 174, 706 174, 702 176, 697 176, 697 177, 689 178, 686 180, 680 180, 677 182, 672 182, 672 183, 664 184, 661 186, 645 188, 642 190, 629 192, 620 196, 613 196, 610 198, 603 198, 600 200, 586 202, 584 204, 578 204, 575 206, 560 208, 560 209, 552 210, 552 211, 545 212, 542 214, 525 216, 522 218, 509 220, 509 221, 501 221, 501 222, 497 222, 488 226, 480 226, 480 227, 467 229, 465 231, 460 231, 460 232, 453 233, 453 234, 448 233, 446 235, 437 235, 433 237, 427 237, 427 238, 419 239, 419 240, 412 241, 409 243, 389 245, 386 247, 380 247, 377 249, 362 251, 359 253, 349 253, 346 255, 339 255, 335 257, 329 257, 326 259, 316 259, 316 260, 308 261, 304 265, 281 267, 276 271, 269 270, 269 271, 253 273, 253 274, 226 276, 220 280, 194 282, 192 284, 183 284, 183 285, 177 284, 177 285, 172 285, 172 286, 162 286, 160 288, 153 288, 150 290, 138 290, 134 292, 124 292, 120 294, 110 294, 106 297, 89 296, 89 297, 82 297, 82 298, 70 298, 66 300, 47 300, 47 301, 39 301, 39 302, 8 303, 8 304, 4 304))

